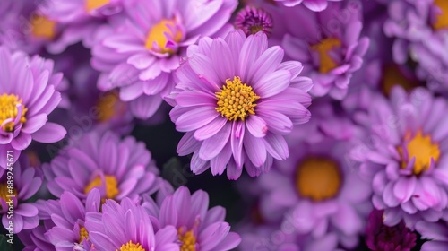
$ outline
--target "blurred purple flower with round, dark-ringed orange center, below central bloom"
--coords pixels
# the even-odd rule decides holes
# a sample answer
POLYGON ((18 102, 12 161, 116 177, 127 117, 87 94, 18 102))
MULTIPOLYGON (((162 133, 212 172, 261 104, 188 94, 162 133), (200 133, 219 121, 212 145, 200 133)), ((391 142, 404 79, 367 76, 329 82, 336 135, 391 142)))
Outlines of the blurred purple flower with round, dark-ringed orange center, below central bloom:
MULTIPOLYGON (((303 130, 295 133, 314 134, 303 130)), ((263 191, 263 219, 282 224, 292 221, 297 237, 313 237, 315 243, 307 245, 332 237, 329 247, 315 250, 332 250, 335 243, 356 247, 371 210, 372 189, 346 160, 350 147, 349 140, 331 137, 311 144, 290 143, 289 159, 276 162, 271 172, 257 179, 263 191)))

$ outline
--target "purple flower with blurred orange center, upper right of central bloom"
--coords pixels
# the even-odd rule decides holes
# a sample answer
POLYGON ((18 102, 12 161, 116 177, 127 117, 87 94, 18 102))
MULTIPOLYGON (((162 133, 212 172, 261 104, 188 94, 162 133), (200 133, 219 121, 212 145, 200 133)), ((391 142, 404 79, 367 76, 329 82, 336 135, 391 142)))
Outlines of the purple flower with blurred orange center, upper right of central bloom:
POLYGON ((284 23, 288 30, 281 43, 287 56, 302 62, 304 73, 313 80, 311 94, 342 100, 369 45, 369 39, 360 38, 363 23, 359 4, 333 3, 320 13, 299 5, 282 8, 275 16, 274 22, 284 23), (340 20, 340 13, 348 18, 340 20), (306 29, 295 29, 295 23, 306 29))

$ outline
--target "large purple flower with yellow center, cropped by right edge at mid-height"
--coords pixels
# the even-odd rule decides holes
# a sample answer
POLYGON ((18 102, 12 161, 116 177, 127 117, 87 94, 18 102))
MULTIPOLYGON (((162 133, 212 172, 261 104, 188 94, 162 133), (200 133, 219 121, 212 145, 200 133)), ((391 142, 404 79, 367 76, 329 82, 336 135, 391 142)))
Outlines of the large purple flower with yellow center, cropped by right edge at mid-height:
POLYGON ((369 137, 351 158, 372 177, 375 208, 388 226, 404 220, 435 222, 447 208, 446 100, 423 88, 410 94, 394 87, 390 100, 376 96, 366 118, 369 137))

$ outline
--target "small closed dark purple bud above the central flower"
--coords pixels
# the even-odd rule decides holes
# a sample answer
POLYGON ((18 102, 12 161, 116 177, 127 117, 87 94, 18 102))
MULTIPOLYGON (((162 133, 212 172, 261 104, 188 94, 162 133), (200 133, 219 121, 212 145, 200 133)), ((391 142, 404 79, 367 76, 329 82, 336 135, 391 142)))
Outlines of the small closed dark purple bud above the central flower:
POLYGON ((246 36, 254 35, 258 31, 263 31, 266 35, 271 36, 271 14, 265 12, 262 8, 246 6, 237 13, 235 27, 243 30, 246 36))

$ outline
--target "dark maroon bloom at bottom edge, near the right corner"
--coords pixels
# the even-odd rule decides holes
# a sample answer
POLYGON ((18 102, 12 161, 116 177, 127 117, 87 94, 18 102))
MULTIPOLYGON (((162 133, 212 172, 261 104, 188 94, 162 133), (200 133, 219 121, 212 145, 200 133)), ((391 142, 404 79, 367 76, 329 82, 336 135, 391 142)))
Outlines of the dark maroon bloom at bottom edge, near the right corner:
POLYGON ((366 229, 366 244, 373 251, 407 250, 416 246, 417 235, 401 221, 393 227, 383 224, 383 211, 370 212, 366 229))

